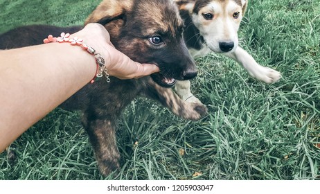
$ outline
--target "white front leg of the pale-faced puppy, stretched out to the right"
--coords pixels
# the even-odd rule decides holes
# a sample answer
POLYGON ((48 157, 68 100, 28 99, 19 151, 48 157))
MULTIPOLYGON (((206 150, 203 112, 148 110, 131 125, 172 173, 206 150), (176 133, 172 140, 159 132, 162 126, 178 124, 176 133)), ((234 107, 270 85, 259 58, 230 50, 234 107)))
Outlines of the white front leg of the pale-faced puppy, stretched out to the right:
POLYGON ((227 57, 239 62, 248 71, 251 77, 267 84, 274 83, 281 78, 281 73, 269 67, 263 67, 254 60, 243 48, 238 46, 234 52, 224 53, 227 57))

